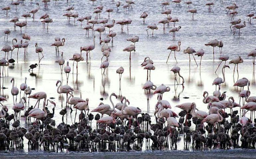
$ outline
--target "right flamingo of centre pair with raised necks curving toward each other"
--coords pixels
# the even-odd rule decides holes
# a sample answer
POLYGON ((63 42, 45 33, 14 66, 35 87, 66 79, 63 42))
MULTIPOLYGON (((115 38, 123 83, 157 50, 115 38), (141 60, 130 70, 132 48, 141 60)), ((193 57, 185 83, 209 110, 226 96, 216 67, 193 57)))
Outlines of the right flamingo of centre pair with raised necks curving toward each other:
MULTIPOLYGON (((129 119, 129 129, 130 129, 131 128, 131 116, 135 117, 136 121, 137 121, 137 115, 141 114, 141 110, 136 107, 132 107, 132 106, 126 107, 126 97, 125 96, 122 97, 121 102, 123 103, 122 110, 121 110, 123 115, 129 115, 129 118, 130 118, 129 119), (123 100, 124 100, 124 103, 123 103, 123 100)), ((138 121, 137 121, 137 124, 139 125, 138 121)))

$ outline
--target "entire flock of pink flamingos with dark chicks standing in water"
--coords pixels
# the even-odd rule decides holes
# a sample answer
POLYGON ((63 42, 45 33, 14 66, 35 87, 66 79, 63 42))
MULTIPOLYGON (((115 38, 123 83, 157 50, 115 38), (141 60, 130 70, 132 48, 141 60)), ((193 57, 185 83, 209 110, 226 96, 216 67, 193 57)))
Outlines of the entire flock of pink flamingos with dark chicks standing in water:
MULTIPOLYGON (((27 0, 29 1, 29 0, 27 0)), ((23 3, 30 3, 28 5, 35 6, 35 9, 22 14, 21 17, 25 18, 25 21, 19 21, 20 17, 13 17, 10 22, 14 23, 14 30, 16 26, 20 27, 20 32, 24 40, 18 41, 17 38, 12 39, 12 46, 6 45, 3 46, 2 50, 5 55, 0 60, 0 66, 2 67, 1 77, 4 80, 4 68, 14 63, 18 62, 18 53, 19 49, 24 49, 24 55, 27 53, 27 48, 31 45, 35 46, 35 52, 38 55, 38 63, 30 65, 28 68, 29 71, 33 72, 33 69, 36 69, 40 65, 41 60, 43 60, 43 46, 41 47, 38 43, 30 44, 29 40, 33 37, 30 37, 28 33, 23 33, 22 28, 27 25, 27 18, 31 17, 33 20, 38 18, 37 12, 41 9, 40 6, 44 3, 44 9, 47 10, 48 3, 51 3, 50 0, 42 0, 42 2, 35 3, 33 0, 27 2, 25 0, 12 0, 11 7, 5 6, 2 8, 2 12, 6 11, 6 16, 8 16, 9 10, 18 10, 20 5, 23 3), (13 7, 15 6, 15 7, 13 7), (23 42, 25 41, 25 42, 23 42), (12 56, 16 54, 17 50, 17 59, 12 56), (16 60, 16 61, 15 61, 16 60)), ((96 0, 89 0, 94 3, 96 0)), ((99 1, 99 0, 98 0, 99 1)), ((68 0, 67 0, 68 2, 68 0)), ((55 5, 58 3, 64 3, 62 1, 54 2, 55 5)), ((63 58, 63 52, 60 52, 59 49, 64 46, 65 38, 55 38, 55 42, 51 46, 55 46, 56 56, 61 54, 61 58, 58 61, 60 65, 61 75, 63 77, 63 71, 66 74, 66 83, 68 84, 69 73, 77 74, 78 72, 78 62, 86 60, 87 63, 90 63, 90 53, 95 49, 95 34, 94 31, 99 32, 99 42, 103 43, 101 46, 102 58, 100 68, 102 69, 102 82, 106 78, 108 71, 108 58, 111 54, 111 46, 114 46, 114 37, 116 32, 111 28, 114 25, 121 25, 121 31, 126 31, 123 27, 127 27, 127 33, 129 31, 128 26, 132 26, 131 19, 124 19, 120 21, 110 20, 111 12, 123 11, 127 12, 133 9, 133 6, 136 6, 136 2, 132 0, 125 0, 123 2, 114 2, 113 8, 105 9, 104 6, 99 5, 95 6, 92 10, 94 16, 78 16, 77 13, 71 13, 74 10, 74 6, 67 6, 66 12, 63 16, 66 16, 68 23, 70 23, 70 18, 74 18, 74 25, 76 21, 81 22, 86 21, 86 25, 83 26, 83 29, 86 30, 86 35, 92 34, 93 44, 80 47, 80 53, 74 53, 73 57, 69 60, 73 61, 72 67, 68 65, 68 60, 63 58), (103 9, 104 8, 104 9, 103 9), (120 8, 123 8, 121 10, 120 8), (108 18, 101 18, 100 14, 108 12, 108 18), (96 24, 103 24, 103 26, 96 27, 96 24), (107 29, 107 28, 109 29, 107 29), (91 29, 91 31, 90 31, 91 29), (106 38, 101 39, 101 33, 107 31, 106 38), (111 42, 111 46, 108 44, 111 42), (86 53, 86 58, 82 56, 82 53, 86 53), (104 59, 103 59, 104 58, 104 59), (65 65, 65 60, 66 65, 65 65), (76 66, 74 66, 76 62, 76 66), (64 66, 65 65, 65 66, 64 66), (64 67, 64 68, 63 68, 64 67), (74 71, 74 67, 76 67, 74 71)), ((182 30, 181 26, 175 26, 179 19, 177 17, 170 16, 171 10, 167 9, 169 5, 177 5, 176 9, 179 9, 181 3, 186 3, 188 5, 187 11, 192 13, 192 20, 195 19, 194 14, 197 10, 191 8, 193 1, 187 0, 172 0, 159 3, 162 12, 161 14, 166 14, 166 18, 159 21, 159 24, 163 24, 163 31, 165 32, 165 25, 168 26, 170 23, 173 23, 173 27, 169 32, 173 33, 173 39, 176 38, 178 31, 182 30), (176 3, 176 4, 175 4, 176 3)), ((222 1, 216 1, 215 3, 222 3, 222 1)), ((207 2, 205 4, 208 6, 210 12, 211 6, 214 5, 213 2, 207 2)), ((234 15, 238 14, 236 9, 239 8, 239 4, 230 4, 226 7, 227 14, 231 15, 230 29, 234 32, 237 32, 240 36, 240 29, 246 27, 246 23, 251 23, 251 18, 256 18, 253 13, 245 15, 248 17, 248 22, 242 22, 241 19, 235 20, 234 15)), ((50 31, 49 24, 54 20, 51 19, 51 14, 44 14, 40 17, 42 19, 43 27, 46 27, 47 31, 50 31)), ((143 23, 147 20, 148 14, 143 12, 140 18, 143 19, 143 23)), ((132 26, 133 27, 133 26, 132 26)), ((148 25, 145 28, 145 33, 149 36, 149 29, 152 30, 152 36, 154 36, 154 30, 158 29, 157 24, 148 25)), ((8 35, 11 33, 9 29, 5 29, 4 40, 8 41, 8 35)), ((123 51, 129 52, 129 66, 131 69, 131 52, 136 51, 135 43, 139 41, 139 36, 134 36, 127 39, 133 44, 127 46, 123 51)), ((176 60, 176 52, 181 51, 180 48, 181 41, 178 41, 178 44, 172 44, 167 49, 170 50, 170 54, 167 58, 166 63, 170 58, 172 52, 174 52, 174 58, 176 60)), ((62 123, 55 123, 55 107, 56 103, 47 98, 46 92, 33 92, 32 88, 27 85, 25 82, 20 84, 20 88, 14 86, 15 79, 11 79, 12 87, 11 94, 13 99, 8 99, 9 103, 13 103, 12 108, 8 108, 5 103, 7 99, 4 96, 0 96, 0 104, 2 109, 0 112, 0 149, 9 150, 9 149, 18 149, 24 146, 24 139, 28 142, 28 148, 30 149, 40 149, 42 146, 44 150, 55 150, 55 151, 64 151, 64 148, 73 151, 85 150, 85 151, 116 151, 117 148, 129 150, 131 147, 141 149, 144 141, 146 141, 147 149, 177 149, 177 141, 183 136, 184 146, 186 148, 192 146, 196 149, 205 149, 205 148, 255 148, 256 144, 256 125, 255 123, 255 110, 256 110, 256 96, 250 96, 250 81, 246 78, 238 79, 234 86, 240 87, 241 92, 239 93, 242 102, 235 102, 233 97, 228 97, 226 99, 226 92, 220 92, 220 87, 222 83, 225 83, 225 70, 230 69, 231 65, 234 64, 234 74, 237 71, 238 74, 238 64, 242 65, 242 57, 236 57, 234 59, 229 59, 228 55, 222 55, 223 42, 218 40, 210 40, 205 44, 206 46, 213 47, 213 58, 214 53, 219 52, 220 63, 216 68, 216 71, 220 67, 222 69, 222 77, 216 78, 213 80, 212 85, 216 86, 216 90, 210 95, 207 91, 203 92, 203 103, 207 103, 208 112, 200 111, 196 108, 196 103, 183 103, 176 105, 176 107, 181 109, 181 112, 174 112, 170 103, 167 100, 163 100, 163 94, 170 91, 170 87, 164 84, 156 86, 150 80, 151 70, 155 70, 154 62, 150 57, 145 57, 143 63, 141 64, 144 69, 148 71, 147 82, 144 84, 143 89, 147 93, 147 105, 149 109, 149 94, 157 94, 158 102, 155 105, 154 116, 150 116, 149 112, 142 112, 140 108, 136 106, 130 106, 129 100, 122 96, 121 102, 114 104, 112 98, 117 98, 115 93, 112 93, 109 96, 111 104, 100 103, 98 107, 90 111, 89 109, 89 99, 82 99, 79 97, 73 96, 74 89, 69 85, 64 85, 64 79, 58 80, 56 83, 57 93, 64 94, 66 96, 66 108, 61 110, 59 113, 62 116, 62 123), (214 51, 215 48, 215 51, 214 51), (223 66, 221 63, 225 62, 223 66), (228 63, 226 63, 228 62, 228 63), (237 69, 235 69, 237 68, 237 69), (247 88, 248 90, 244 89, 247 88), (153 90, 153 91, 152 91, 153 90), (23 92, 22 92, 23 91, 23 92), (23 95, 22 95, 23 94, 23 95), (21 97, 22 95, 22 97, 21 97), (18 102, 17 102, 17 98, 18 102), (31 99, 32 98, 32 99, 31 99), (30 100, 30 101, 29 101, 30 100), (31 101, 32 100, 32 101, 31 101), (20 101, 20 102, 19 102, 20 101), (33 106, 29 106, 29 102, 35 102, 33 106), (27 104, 28 103, 28 104, 27 104), (50 110, 48 106, 50 104, 53 106, 53 109, 50 110), (235 107, 240 107, 237 110, 233 110, 235 107), (12 110, 10 110, 12 109, 12 110), (78 116, 78 120, 74 119, 74 124, 68 125, 67 120, 64 120, 64 116, 67 113, 67 109, 71 110, 71 113, 75 111, 78 116), (77 114, 78 111, 78 114, 77 114), (87 112, 86 112, 87 111, 87 112), (249 115, 249 113, 250 115, 249 115), (94 114, 95 112, 95 114, 94 114), (28 129, 20 127, 20 118, 26 118, 26 124, 28 129), (33 119, 34 118, 34 119, 33 119), (152 123, 151 119, 156 118, 156 123, 152 123), (95 122, 94 122, 95 121, 95 122), (66 122, 66 123, 65 123, 66 122), (96 125, 92 126, 92 123, 96 125), (195 127, 195 128, 192 128, 195 127), (192 130, 193 129, 193 130, 192 130), (190 144, 192 142, 192 145, 190 144)), ((183 51, 186 54, 189 54, 189 58, 192 55, 195 63, 196 60, 194 55, 199 56, 202 59, 204 55, 204 50, 195 51, 193 48, 188 47, 183 51)), ((216 56, 216 55, 215 55, 216 56)), ((255 65, 255 56, 256 49, 248 53, 248 57, 253 58, 253 68, 255 65)), ((201 67, 200 63, 196 65, 201 67)), ((178 61, 176 60, 178 63, 178 61)), ((191 62, 191 61, 190 61, 191 62)), ((190 65, 190 64, 189 64, 190 65)), ((174 83, 184 85, 185 80, 181 75, 180 67, 176 66, 171 69, 175 74, 174 83), (182 82, 178 80, 178 76, 183 79, 182 82)), ((120 67, 116 70, 116 73, 119 74, 119 88, 121 89, 121 80, 124 68, 120 67)), ((4 88, 4 87, 2 87, 4 88)), ((145 103, 146 104, 146 103, 145 103)), ((49 106, 50 106, 49 105, 49 106)), ((57 106, 58 107, 58 106, 57 106)))

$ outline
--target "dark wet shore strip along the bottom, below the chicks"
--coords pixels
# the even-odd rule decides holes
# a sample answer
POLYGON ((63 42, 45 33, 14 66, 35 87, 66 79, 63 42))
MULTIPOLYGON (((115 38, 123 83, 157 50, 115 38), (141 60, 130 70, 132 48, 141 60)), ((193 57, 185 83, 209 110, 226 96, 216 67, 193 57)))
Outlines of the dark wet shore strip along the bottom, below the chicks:
POLYGON ((47 155, 45 153, 42 155, 39 154, 6 154, 6 156, 1 155, 1 159, 73 159, 73 158, 86 158, 86 159, 95 159, 95 158, 104 158, 104 159, 113 159, 113 158, 122 158, 122 159, 132 159, 132 158, 150 158, 150 159, 187 159, 187 158, 201 158, 201 159, 247 159, 247 158, 256 158, 255 150, 244 150, 244 149, 230 149, 230 150, 212 150, 212 151, 145 151, 145 152, 94 152, 94 153, 70 153, 70 154, 53 154, 47 155))

